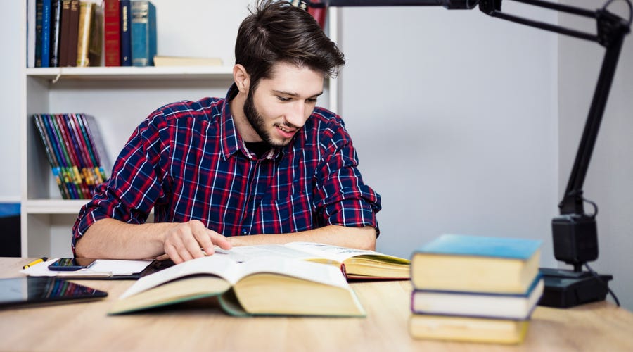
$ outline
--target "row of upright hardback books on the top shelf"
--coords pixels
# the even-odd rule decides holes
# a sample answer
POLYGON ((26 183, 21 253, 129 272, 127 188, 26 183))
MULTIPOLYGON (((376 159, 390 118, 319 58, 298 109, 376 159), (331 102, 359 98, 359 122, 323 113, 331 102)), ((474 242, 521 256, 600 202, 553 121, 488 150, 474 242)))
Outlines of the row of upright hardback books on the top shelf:
POLYGON ((27 67, 151 66, 156 49, 150 1, 27 2, 27 67))

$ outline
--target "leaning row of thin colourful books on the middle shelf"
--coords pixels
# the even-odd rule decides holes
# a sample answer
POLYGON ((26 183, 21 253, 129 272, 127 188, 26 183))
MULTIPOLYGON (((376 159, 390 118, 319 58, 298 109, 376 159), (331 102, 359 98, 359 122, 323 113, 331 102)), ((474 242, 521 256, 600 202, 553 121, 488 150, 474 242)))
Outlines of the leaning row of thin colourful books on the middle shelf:
POLYGON ((70 113, 36 114, 33 119, 62 198, 91 199, 95 187, 108 178, 94 118, 70 113))

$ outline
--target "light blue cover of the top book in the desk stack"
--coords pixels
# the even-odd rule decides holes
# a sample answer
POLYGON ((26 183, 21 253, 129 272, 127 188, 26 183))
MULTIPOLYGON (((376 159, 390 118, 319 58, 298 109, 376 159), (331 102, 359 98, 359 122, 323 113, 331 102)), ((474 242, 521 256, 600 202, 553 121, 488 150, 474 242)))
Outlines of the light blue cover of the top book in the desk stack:
POLYGON ((442 234, 437 239, 421 246, 416 253, 528 260, 541 244, 542 241, 537 239, 442 234))

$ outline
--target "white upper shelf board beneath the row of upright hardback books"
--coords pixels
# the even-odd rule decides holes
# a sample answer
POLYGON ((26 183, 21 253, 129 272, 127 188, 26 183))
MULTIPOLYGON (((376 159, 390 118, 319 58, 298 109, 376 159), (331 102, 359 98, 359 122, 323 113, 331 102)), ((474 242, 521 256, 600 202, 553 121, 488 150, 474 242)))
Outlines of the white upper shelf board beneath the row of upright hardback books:
POLYGON ((231 66, 63 67, 27 68, 28 77, 43 80, 209 80, 233 77, 231 66))

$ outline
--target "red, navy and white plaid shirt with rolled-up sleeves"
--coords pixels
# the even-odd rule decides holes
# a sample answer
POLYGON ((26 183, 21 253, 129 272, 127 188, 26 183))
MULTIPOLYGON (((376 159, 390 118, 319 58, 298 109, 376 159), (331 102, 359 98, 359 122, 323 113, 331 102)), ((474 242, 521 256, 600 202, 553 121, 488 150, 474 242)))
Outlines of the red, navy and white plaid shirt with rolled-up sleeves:
POLYGON ((363 183, 343 120, 315 108, 292 142, 257 158, 226 99, 181 101, 141 122, 108 182, 72 229, 72 248, 97 220, 200 220, 224 236, 285 234, 326 225, 373 226, 380 196, 363 183))

